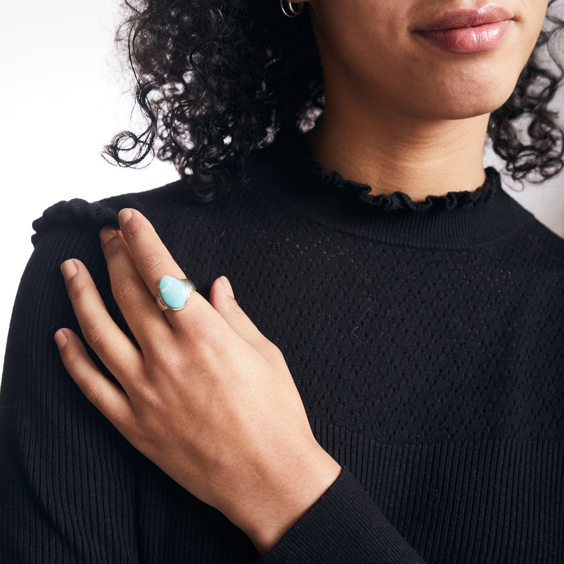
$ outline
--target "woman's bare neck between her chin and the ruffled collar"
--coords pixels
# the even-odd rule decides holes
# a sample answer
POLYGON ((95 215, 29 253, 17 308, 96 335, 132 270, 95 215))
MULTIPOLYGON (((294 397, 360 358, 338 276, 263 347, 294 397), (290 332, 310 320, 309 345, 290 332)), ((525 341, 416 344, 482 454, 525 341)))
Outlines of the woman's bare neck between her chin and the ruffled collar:
POLYGON ((423 201, 473 192, 486 181, 488 119, 489 114, 438 120, 400 113, 342 80, 325 86, 323 116, 304 138, 325 172, 368 184, 374 195, 401 191, 423 201))

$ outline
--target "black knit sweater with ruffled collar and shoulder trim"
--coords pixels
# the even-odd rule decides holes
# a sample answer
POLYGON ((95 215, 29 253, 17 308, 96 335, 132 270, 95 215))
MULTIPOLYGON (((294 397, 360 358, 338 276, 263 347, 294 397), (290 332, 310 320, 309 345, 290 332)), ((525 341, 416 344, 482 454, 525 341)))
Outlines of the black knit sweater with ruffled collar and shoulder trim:
POLYGON ((196 204, 177 182, 47 209, 0 390, 0 561, 564 562, 564 240, 486 173, 474 192, 373 196, 280 133, 255 155, 250 187, 218 201, 196 204), (201 294, 228 276, 343 466, 262 559, 61 363, 55 331, 81 334, 67 258, 86 264, 133 338, 98 238, 125 206, 201 294))

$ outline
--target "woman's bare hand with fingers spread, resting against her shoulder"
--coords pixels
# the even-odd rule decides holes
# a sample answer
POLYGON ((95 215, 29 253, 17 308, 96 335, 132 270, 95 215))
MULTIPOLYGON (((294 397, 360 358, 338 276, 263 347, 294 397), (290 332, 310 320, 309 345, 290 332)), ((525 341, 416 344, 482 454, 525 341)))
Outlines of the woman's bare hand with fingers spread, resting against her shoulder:
POLYGON ((209 302, 193 291, 182 311, 160 311, 158 281, 186 275, 139 211, 126 208, 118 217, 120 229, 103 227, 100 240, 113 296, 141 350, 75 258, 61 265, 74 312, 123 390, 68 328, 55 334, 61 359, 135 448, 264 554, 341 466, 316 442, 282 353, 237 305, 226 277, 211 285, 209 302))

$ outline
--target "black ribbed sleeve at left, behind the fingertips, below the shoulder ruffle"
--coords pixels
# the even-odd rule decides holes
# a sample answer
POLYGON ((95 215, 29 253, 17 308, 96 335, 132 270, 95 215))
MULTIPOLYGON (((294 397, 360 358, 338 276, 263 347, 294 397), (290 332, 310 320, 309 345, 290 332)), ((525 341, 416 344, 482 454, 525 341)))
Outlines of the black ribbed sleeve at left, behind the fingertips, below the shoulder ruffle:
POLYGON ((71 257, 125 330, 110 304, 100 222, 44 224, 16 294, 0 389, 0 562, 138 562, 136 451, 78 389, 53 339, 61 327, 81 335, 59 270, 71 257))

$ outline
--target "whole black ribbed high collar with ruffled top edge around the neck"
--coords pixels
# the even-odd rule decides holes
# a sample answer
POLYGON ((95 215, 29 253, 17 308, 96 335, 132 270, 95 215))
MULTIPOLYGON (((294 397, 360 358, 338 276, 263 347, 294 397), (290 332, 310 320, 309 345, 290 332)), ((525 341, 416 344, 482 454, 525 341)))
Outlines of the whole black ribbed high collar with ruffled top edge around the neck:
POLYGON ((401 191, 371 195, 367 184, 334 170, 325 173, 305 139, 281 130, 255 153, 251 169, 255 186, 272 205, 291 209, 304 225, 382 243, 432 249, 498 245, 535 221, 503 190, 500 174, 491 166, 484 184, 472 192, 429 195, 417 202, 401 191))

